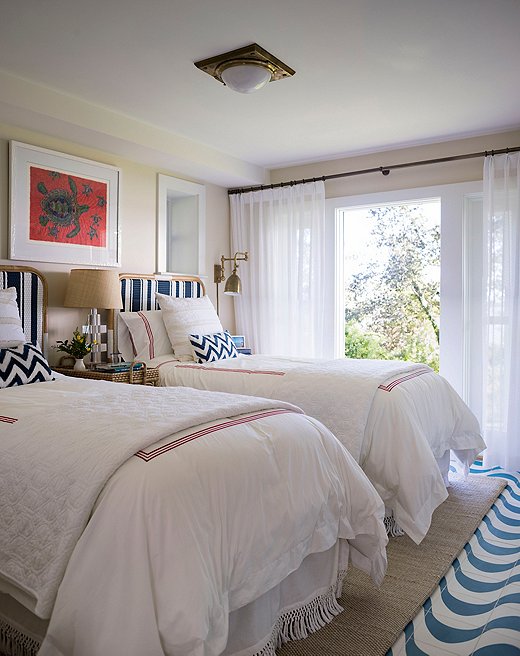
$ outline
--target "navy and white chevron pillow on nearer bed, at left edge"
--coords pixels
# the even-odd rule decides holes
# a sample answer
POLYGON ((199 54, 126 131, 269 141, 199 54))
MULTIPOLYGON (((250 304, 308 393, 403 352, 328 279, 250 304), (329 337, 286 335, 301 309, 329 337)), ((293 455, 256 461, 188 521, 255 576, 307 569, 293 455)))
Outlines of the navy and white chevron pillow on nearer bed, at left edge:
POLYGON ((0 388, 54 380, 42 352, 32 344, 0 348, 0 388))

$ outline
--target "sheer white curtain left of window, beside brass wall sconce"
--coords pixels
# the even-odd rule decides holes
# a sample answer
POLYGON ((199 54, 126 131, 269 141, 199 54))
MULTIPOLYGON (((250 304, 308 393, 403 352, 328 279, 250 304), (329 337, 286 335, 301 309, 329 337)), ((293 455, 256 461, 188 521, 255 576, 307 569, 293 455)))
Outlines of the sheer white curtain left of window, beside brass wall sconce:
POLYGON ((256 353, 322 357, 323 182, 234 194, 230 202, 233 252, 250 254, 239 269, 237 332, 256 353))

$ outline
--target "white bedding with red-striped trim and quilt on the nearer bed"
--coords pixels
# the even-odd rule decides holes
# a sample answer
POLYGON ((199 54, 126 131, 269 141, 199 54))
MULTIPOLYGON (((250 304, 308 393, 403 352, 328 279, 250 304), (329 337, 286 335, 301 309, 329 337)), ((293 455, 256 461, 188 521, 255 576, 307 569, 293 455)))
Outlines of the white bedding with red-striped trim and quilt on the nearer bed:
POLYGON ((382 579, 379 496, 288 404, 59 379, 0 416, 0 589, 52 610, 42 656, 216 656, 230 614, 330 550, 329 594, 349 556, 382 579))

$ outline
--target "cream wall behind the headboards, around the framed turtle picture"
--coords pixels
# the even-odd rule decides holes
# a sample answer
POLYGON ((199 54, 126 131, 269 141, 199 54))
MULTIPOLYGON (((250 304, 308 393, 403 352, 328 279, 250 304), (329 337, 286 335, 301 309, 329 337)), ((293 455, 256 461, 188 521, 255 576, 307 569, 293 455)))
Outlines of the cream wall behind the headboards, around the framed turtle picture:
MULTIPOLYGON (((120 220, 121 220, 121 268, 120 272, 153 273, 155 262, 157 174, 164 173, 185 178, 182 171, 155 169, 120 156, 87 148, 72 141, 56 139, 48 135, 0 124, 0 261, 4 264, 25 264, 39 269, 49 285, 49 344, 57 339, 70 338, 72 330, 80 325, 86 312, 63 308, 63 299, 70 265, 46 262, 8 260, 9 235, 9 140, 21 141, 34 146, 85 157, 121 169, 120 220)), ((204 180, 193 180, 204 184, 204 180)), ((215 304, 215 285, 212 279, 213 264, 220 256, 229 254, 229 202, 226 189, 206 185, 206 291, 215 304)), ((81 265, 76 265, 81 266, 81 265)), ((220 315, 223 325, 234 331, 233 301, 221 296, 220 315)), ((49 359, 56 362, 57 353, 50 349, 49 359)))

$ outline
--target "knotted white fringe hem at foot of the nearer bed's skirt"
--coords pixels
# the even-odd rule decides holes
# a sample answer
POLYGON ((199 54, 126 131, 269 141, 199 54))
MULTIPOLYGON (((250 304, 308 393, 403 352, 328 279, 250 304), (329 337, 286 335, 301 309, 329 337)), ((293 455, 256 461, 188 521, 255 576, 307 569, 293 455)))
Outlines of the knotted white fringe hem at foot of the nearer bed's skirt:
POLYGON ((331 622, 343 611, 337 597, 341 595, 346 570, 338 573, 337 581, 322 595, 298 608, 282 613, 264 647, 254 656, 276 656, 276 650, 290 640, 303 640, 331 622))

